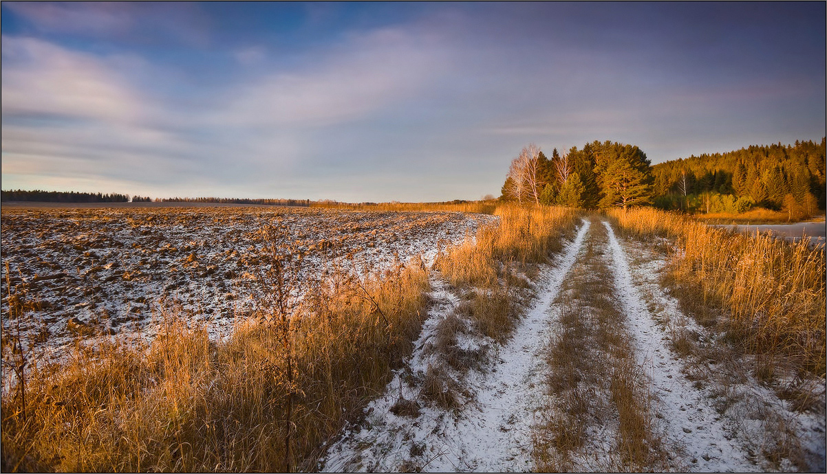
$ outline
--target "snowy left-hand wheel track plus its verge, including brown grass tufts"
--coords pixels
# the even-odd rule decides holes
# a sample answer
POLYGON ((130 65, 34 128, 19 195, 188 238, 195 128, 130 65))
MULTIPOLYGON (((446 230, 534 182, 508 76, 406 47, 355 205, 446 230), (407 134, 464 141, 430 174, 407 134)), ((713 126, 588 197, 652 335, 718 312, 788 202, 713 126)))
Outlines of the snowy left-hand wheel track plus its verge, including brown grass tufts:
POLYGON ((434 281, 428 315, 406 367, 323 459, 328 472, 525 472, 533 468, 531 424, 543 406, 548 306, 574 263, 588 225, 557 262, 541 266, 538 297, 504 345, 457 311, 461 299, 434 281), (457 358, 460 363, 457 363, 457 358), (466 360, 461 360, 466 358, 466 360), (452 362, 453 361, 453 362, 452 362))

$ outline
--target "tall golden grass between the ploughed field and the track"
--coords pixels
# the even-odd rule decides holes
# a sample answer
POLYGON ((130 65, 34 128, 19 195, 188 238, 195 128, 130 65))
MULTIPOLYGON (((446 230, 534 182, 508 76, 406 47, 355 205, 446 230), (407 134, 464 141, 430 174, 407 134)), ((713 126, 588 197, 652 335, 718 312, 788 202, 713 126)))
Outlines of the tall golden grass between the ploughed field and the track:
MULTIPOLYGON (((481 230, 476 244, 440 258, 453 282, 507 285, 497 275, 544 261, 576 216, 556 208, 497 213, 499 230, 481 230)), ((283 271, 290 261, 274 250, 251 268, 265 296, 227 339, 211 340, 182 310, 165 307, 151 343, 78 344, 63 363, 31 363, 25 398, 2 395, 2 470, 315 470, 326 443, 411 353, 427 315, 429 271, 414 259, 382 274, 336 271, 299 283, 283 271)), ((507 311, 509 292, 497 292, 476 307, 507 311)))

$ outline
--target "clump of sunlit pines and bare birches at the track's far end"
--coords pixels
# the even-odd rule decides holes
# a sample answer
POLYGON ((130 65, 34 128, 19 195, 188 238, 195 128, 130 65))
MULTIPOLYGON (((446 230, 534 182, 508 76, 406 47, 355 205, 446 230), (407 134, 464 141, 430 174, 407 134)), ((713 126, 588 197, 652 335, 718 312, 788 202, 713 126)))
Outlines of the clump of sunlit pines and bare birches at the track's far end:
POLYGON ((594 141, 548 158, 535 145, 523 148, 509 168, 501 200, 572 207, 613 207, 653 201, 652 166, 635 145, 594 141))

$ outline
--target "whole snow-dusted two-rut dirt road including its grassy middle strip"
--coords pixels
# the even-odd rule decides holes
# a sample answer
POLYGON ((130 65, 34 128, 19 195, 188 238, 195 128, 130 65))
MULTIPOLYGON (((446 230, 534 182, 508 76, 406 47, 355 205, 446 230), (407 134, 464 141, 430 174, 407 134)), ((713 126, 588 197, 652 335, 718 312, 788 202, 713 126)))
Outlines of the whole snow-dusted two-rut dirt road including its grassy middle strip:
MULTIPOLYGON (((823 413, 797 413, 681 313, 667 258, 584 220, 534 279, 536 298, 503 345, 466 331, 489 357, 445 369, 456 403, 423 398, 440 361, 438 302, 407 367, 323 458, 326 471, 823 471, 823 413)), ((823 386, 823 380, 822 380, 823 386)), ((821 394, 823 396, 823 389, 821 394)))

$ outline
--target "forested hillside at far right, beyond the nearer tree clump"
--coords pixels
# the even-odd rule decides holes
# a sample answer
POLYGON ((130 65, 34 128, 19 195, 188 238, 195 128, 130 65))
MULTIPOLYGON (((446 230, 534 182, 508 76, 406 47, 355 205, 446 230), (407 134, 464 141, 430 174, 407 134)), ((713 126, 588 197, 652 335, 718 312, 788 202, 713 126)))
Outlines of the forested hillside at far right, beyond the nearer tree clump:
POLYGON ((825 138, 755 145, 653 166, 654 204, 688 212, 743 212, 753 206, 801 218, 825 209, 825 138))

